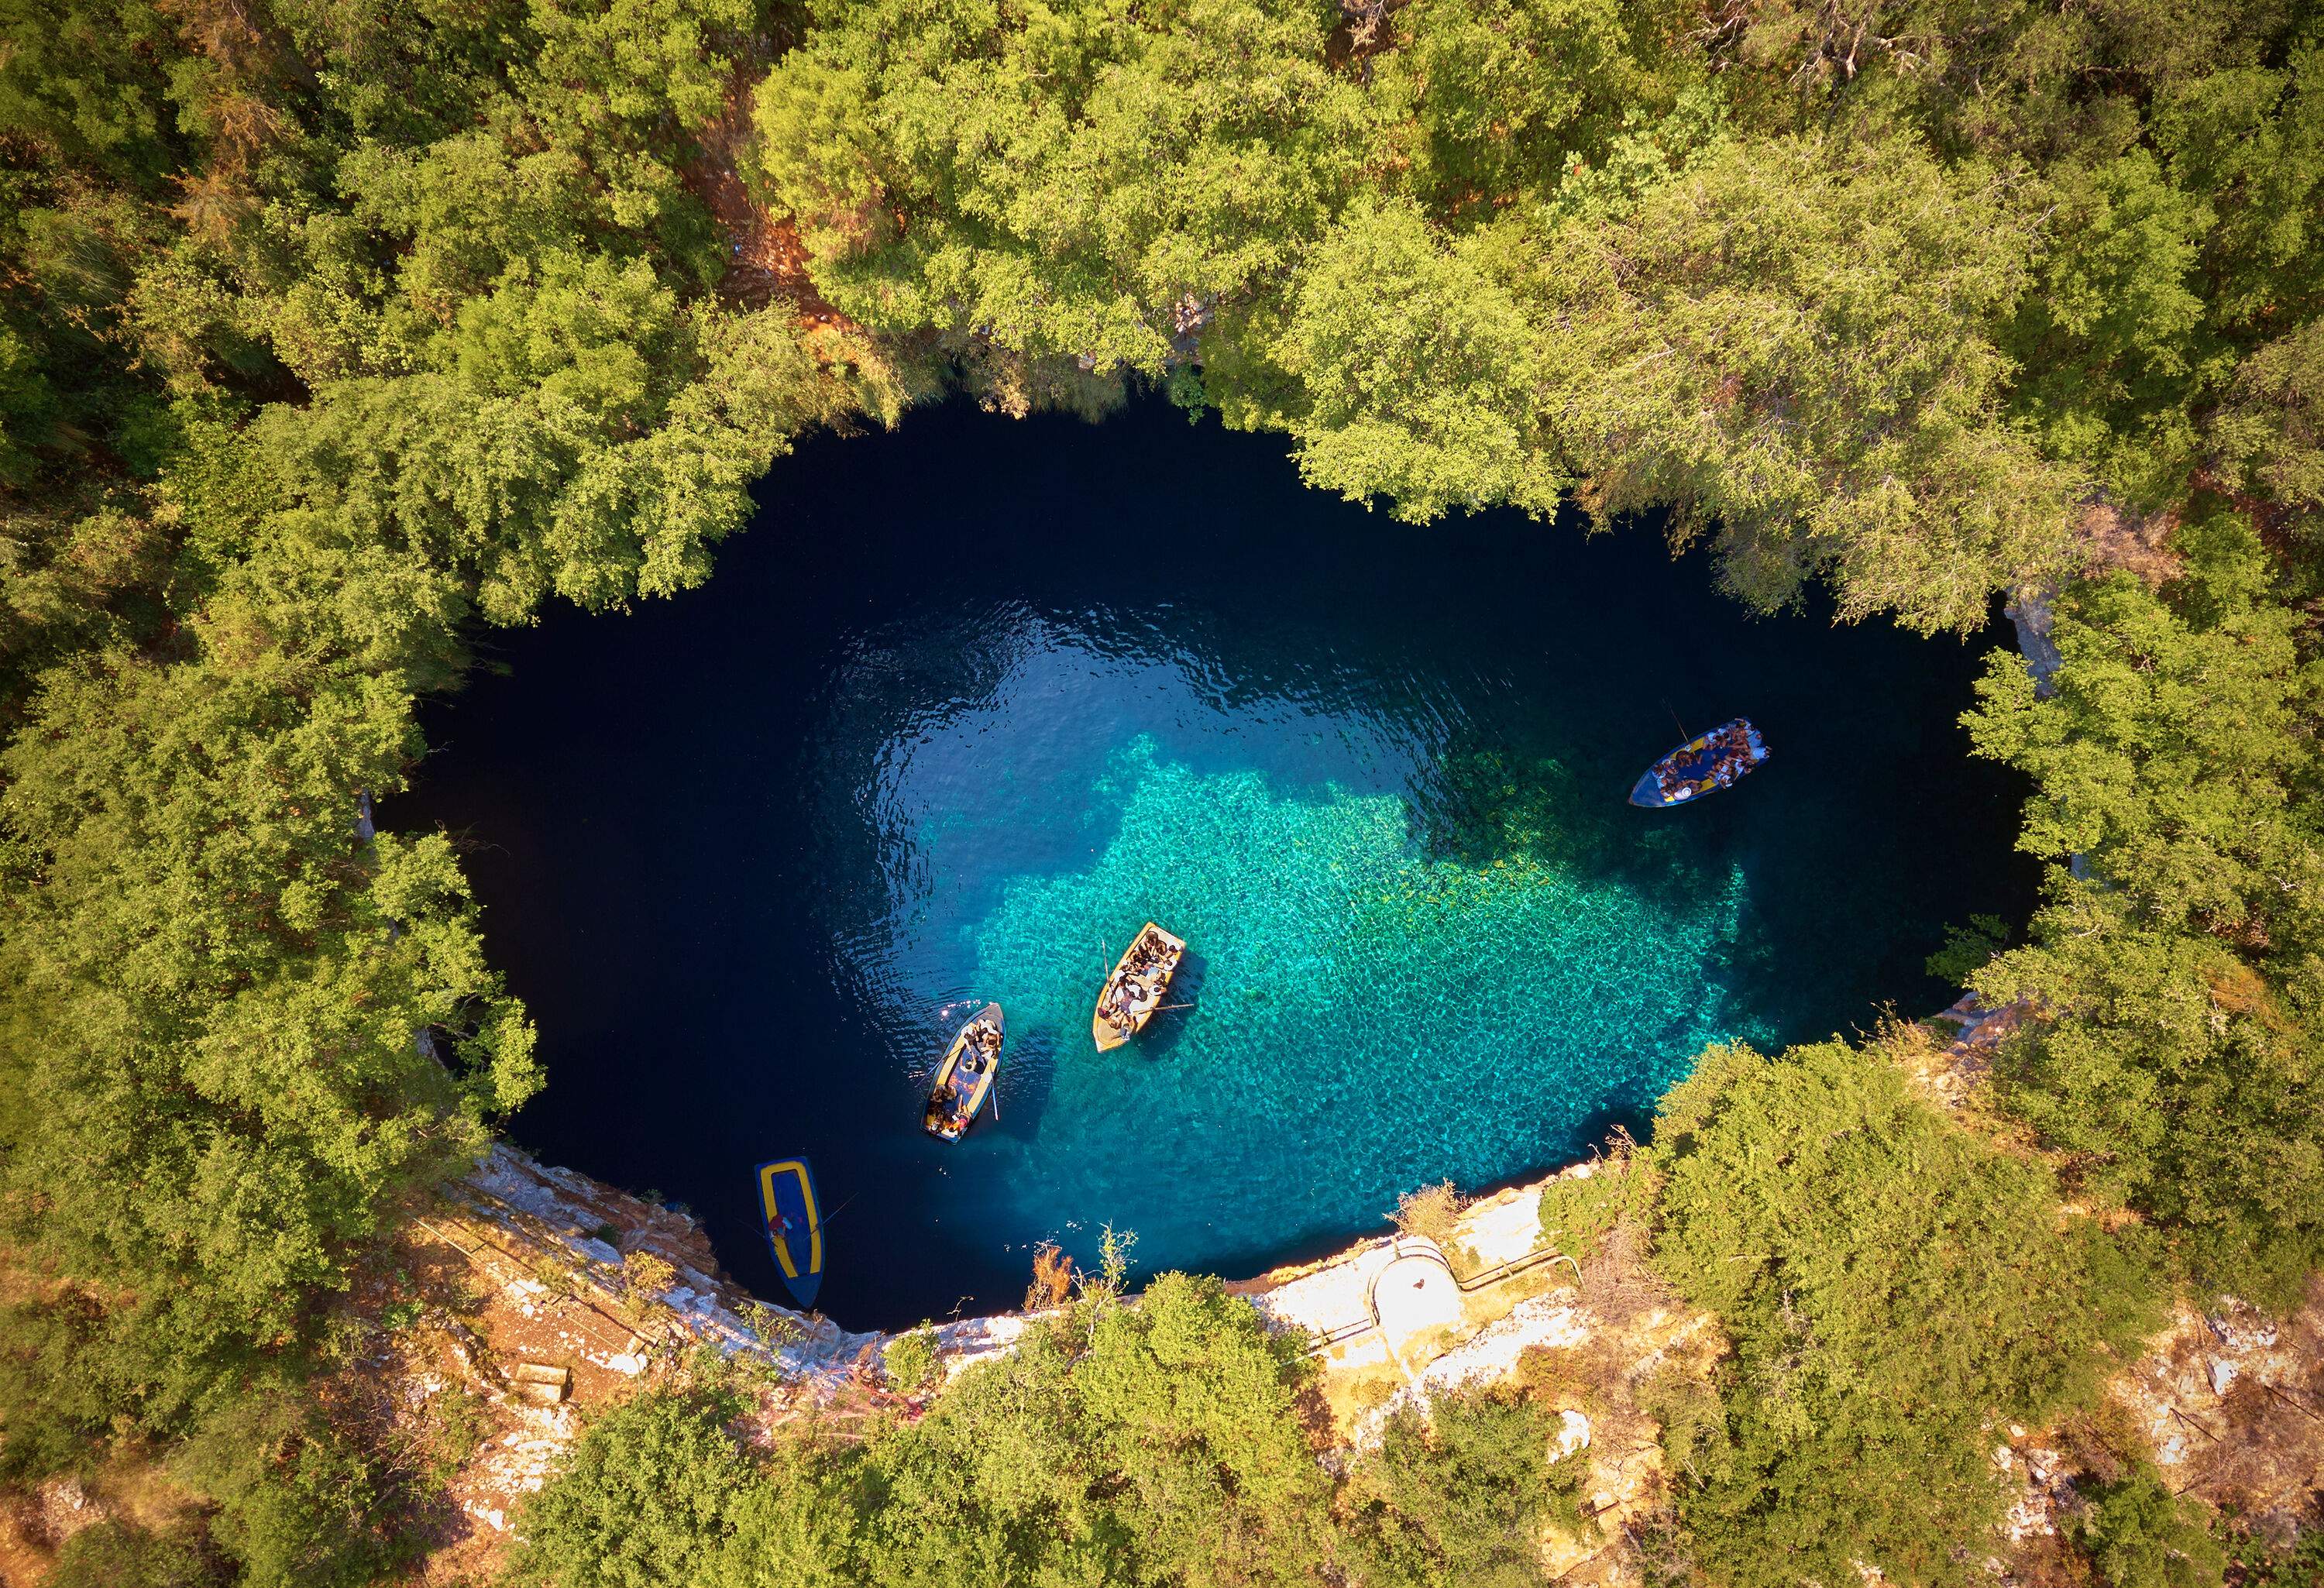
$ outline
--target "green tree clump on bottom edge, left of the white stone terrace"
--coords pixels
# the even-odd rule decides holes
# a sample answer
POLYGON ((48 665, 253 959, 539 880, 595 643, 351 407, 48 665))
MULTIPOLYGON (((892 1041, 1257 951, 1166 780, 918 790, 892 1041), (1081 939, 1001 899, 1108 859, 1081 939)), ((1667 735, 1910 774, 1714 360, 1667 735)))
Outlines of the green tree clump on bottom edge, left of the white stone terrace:
POLYGON ((865 1446, 760 1460, 723 1428, 732 1400, 646 1395, 528 1504, 516 1579, 1311 1583, 1332 1483, 1292 1416, 1301 1374, 1248 1302, 1164 1274, 1134 1309, 1083 1300, 865 1446))

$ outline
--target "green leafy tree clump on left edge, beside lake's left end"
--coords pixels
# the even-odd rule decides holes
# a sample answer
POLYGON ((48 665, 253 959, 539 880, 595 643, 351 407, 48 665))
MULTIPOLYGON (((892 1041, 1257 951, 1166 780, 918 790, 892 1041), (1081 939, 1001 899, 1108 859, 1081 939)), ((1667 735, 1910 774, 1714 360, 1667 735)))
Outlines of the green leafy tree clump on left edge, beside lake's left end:
MULTIPOLYGON (((365 572, 344 605, 393 579, 365 572)), ((56 672, 0 756, 7 1065, 58 1100, 5 1130, 44 1242, 277 1337, 539 1079, 449 846, 356 837, 358 791, 402 779, 409 695, 335 656, 328 607, 300 628, 277 591, 235 595, 198 625, 207 663, 56 672)))

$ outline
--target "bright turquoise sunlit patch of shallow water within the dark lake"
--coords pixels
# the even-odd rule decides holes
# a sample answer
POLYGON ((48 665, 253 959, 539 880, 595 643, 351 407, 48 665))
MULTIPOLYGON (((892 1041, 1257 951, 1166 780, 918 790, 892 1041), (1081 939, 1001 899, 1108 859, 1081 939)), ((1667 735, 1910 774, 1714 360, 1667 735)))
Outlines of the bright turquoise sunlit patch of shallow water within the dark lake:
MULTIPOLYGON (((1397 795, 1285 793, 1143 737, 1111 756, 1083 795, 1081 825, 1104 835, 1090 865, 1013 877, 962 928, 978 986, 1009 990, 1018 1053, 1053 1067, 1009 1176, 1018 1207, 1104 1207, 1148 1249, 1215 1260, 1248 1244, 1215 1207, 1222 1172, 1297 1163, 1274 1218, 1299 1235, 1364 1225, 1392 1188, 1557 1156, 1608 1104, 1659 1095, 1706 1042, 1773 1037, 1717 979, 1741 867, 1662 897, 1592 877, 1555 842, 1580 825, 1571 779, 1555 763, 1494 774, 1552 793, 1550 842, 1441 858, 1397 795), (1188 939, 1188 1007, 1099 1058, 1090 995, 1143 918, 1188 939)), ((1641 835, 1641 858, 1664 837, 1641 835)), ((946 832, 927 849, 944 872, 946 832)))

